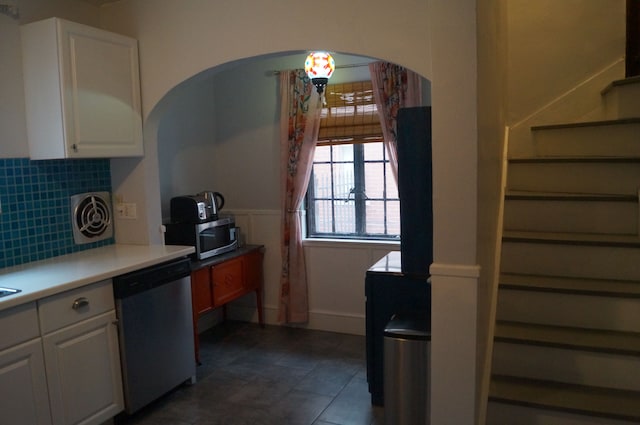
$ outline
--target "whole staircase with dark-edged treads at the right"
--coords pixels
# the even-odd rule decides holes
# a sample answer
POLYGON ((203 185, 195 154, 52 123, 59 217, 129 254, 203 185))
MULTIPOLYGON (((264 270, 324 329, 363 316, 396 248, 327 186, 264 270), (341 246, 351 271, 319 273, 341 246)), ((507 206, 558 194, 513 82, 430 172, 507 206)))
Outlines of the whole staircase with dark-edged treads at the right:
POLYGON ((640 80, 508 162, 488 425, 640 423, 640 80))

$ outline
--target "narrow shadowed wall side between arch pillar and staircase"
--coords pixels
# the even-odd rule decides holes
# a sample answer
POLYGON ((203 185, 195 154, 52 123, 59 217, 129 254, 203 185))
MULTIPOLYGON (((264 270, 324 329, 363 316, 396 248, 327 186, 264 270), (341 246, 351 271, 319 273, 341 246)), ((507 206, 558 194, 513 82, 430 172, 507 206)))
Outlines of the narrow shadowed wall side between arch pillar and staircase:
POLYGON ((489 383, 491 327, 495 321, 496 249, 500 235, 502 153, 506 125, 507 1, 478 1, 478 410, 484 417, 489 383))

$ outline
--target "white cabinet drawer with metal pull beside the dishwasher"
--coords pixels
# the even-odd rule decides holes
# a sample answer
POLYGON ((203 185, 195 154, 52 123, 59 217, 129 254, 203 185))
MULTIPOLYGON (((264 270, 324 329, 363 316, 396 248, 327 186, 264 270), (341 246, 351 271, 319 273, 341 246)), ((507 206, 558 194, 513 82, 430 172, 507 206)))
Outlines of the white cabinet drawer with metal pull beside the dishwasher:
POLYGON ((83 286, 38 301, 43 334, 114 309, 111 280, 83 286))

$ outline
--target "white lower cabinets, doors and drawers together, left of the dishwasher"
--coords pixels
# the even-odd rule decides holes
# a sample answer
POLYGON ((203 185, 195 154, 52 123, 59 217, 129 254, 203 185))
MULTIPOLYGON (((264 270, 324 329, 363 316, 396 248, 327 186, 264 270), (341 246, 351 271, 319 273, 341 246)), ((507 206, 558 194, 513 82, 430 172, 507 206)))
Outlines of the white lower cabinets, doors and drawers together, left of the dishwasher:
POLYGON ((124 410, 111 280, 0 311, 0 425, 98 425, 124 410))

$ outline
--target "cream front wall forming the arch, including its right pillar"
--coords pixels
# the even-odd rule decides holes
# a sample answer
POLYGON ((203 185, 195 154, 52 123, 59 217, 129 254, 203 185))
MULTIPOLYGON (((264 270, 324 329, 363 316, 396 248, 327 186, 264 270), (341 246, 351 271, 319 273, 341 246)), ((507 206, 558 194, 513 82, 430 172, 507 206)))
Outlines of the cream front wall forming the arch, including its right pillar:
MULTIPOLYGON (((308 31, 316 6, 293 0, 125 0, 104 8, 105 27, 140 42, 145 146, 151 145, 140 163, 119 167, 113 162, 114 179, 135 176, 123 178, 115 190, 125 198, 144 192, 149 205, 159 204, 157 185, 151 182, 157 179, 154 131, 164 96, 211 67, 263 54, 327 49, 385 59, 426 77, 432 82, 434 255, 441 263, 432 293, 443 295, 433 313, 433 340, 438 342, 431 364, 439 375, 432 380, 432 417, 438 424, 471 424, 478 274, 475 1, 402 0, 389 8, 383 1, 354 0, 323 6, 339 8, 340 14, 321 18, 322 42, 308 31)), ((147 217, 153 240, 151 223, 159 222, 160 214, 148 211, 147 217)), ((127 229, 127 235, 134 232, 127 229)))

